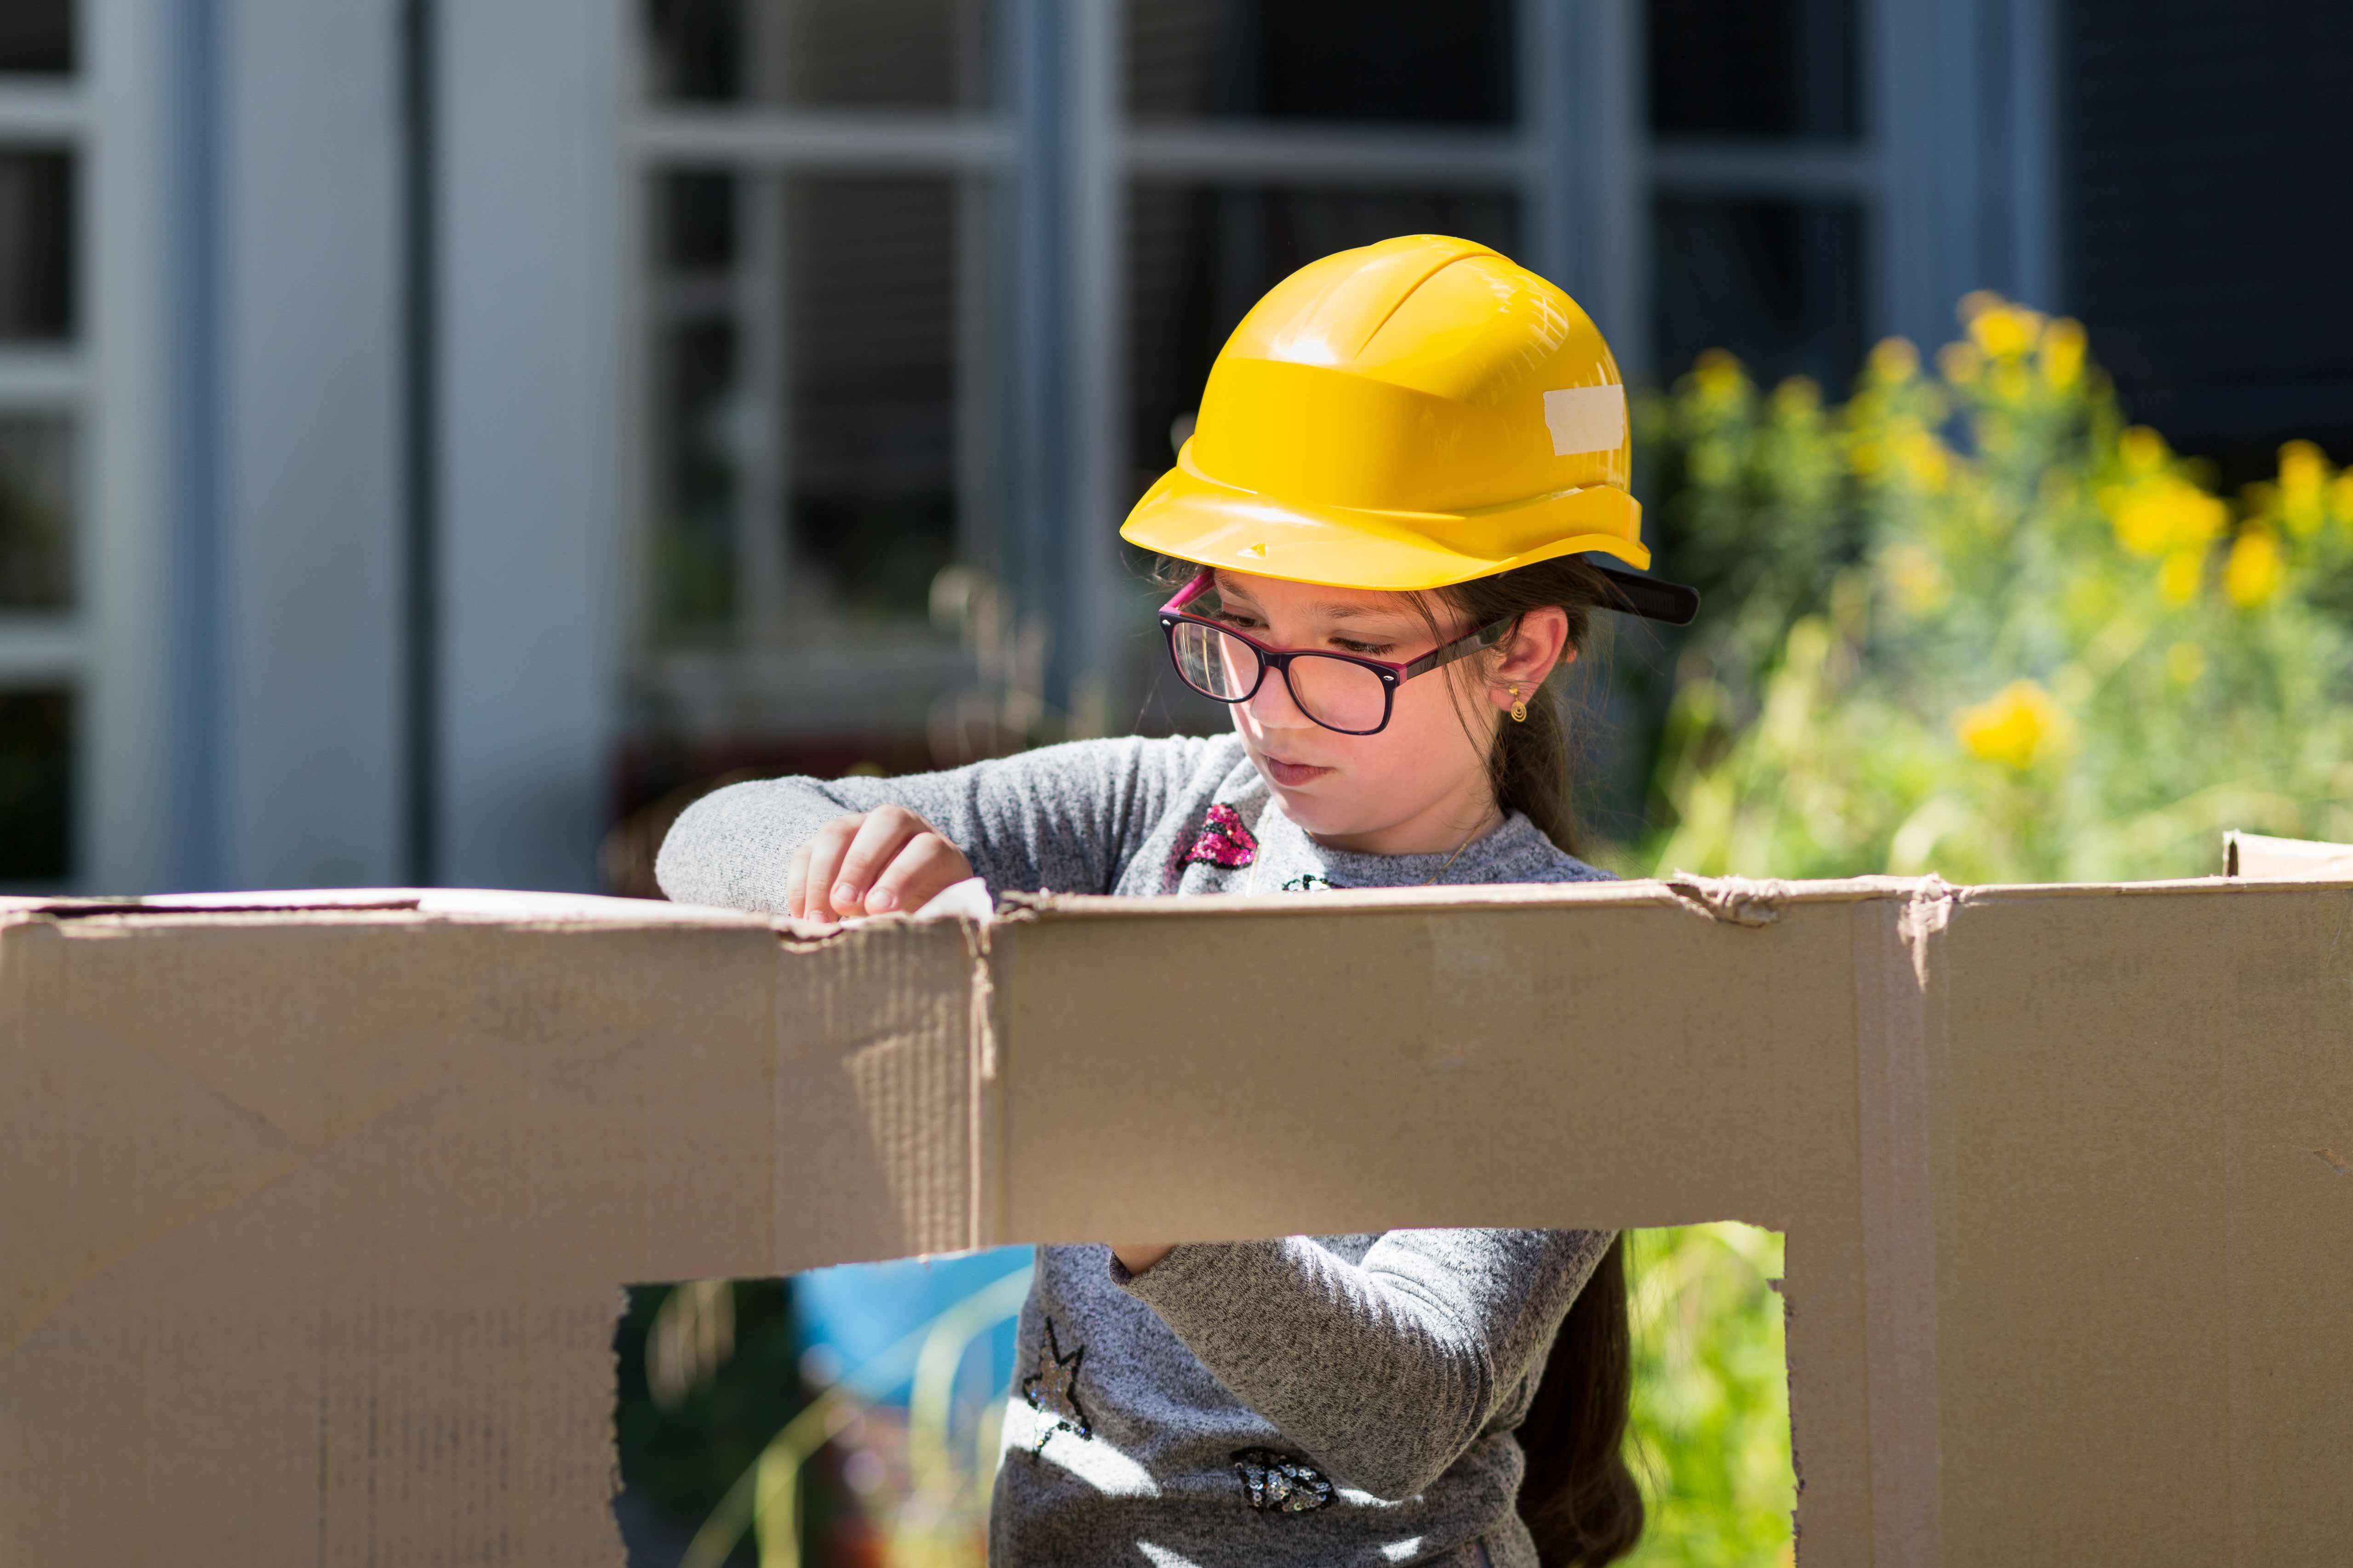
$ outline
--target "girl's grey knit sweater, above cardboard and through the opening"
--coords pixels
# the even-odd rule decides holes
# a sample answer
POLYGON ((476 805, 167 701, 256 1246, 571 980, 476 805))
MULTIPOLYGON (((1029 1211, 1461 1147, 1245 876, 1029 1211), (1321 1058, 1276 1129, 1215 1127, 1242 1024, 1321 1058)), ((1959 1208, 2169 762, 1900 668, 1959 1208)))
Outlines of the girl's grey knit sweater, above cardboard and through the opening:
MULTIPOLYGON (((1591 882, 1520 813, 1447 856, 1332 851, 1233 736, 1082 741, 913 778, 704 797, 661 846, 682 903, 784 907, 791 851, 899 802, 995 893, 1238 893, 1591 882)), ((1513 1436, 1612 1232, 1393 1229, 1188 1244, 1141 1276, 1038 1248, 1021 1309, 998 1568, 1537 1568, 1513 1436)))

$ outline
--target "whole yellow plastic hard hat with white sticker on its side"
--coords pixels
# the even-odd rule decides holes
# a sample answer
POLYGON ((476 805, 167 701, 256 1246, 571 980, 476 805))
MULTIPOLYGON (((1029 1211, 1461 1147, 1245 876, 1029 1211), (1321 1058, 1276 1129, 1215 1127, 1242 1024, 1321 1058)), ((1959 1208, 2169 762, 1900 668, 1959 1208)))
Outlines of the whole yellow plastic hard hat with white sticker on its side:
MULTIPOLYGON (((1567 294, 1485 244, 1405 235, 1311 261, 1226 339, 1193 437, 1120 538, 1334 588, 1442 588, 1555 555, 1649 567, 1626 386, 1567 294)), ((1602 569, 1619 609, 1699 595, 1602 569)))

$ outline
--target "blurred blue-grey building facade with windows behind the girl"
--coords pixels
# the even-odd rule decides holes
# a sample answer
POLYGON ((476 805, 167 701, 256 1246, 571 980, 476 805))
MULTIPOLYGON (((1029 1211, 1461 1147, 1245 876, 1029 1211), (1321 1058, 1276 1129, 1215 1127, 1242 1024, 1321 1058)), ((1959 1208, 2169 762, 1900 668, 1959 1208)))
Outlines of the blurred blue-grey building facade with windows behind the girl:
POLYGON ((1967 289, 2118 299, 2144 110, 2064 61, 2122 33, 2094 0, 14 0, 0 886, 595 886, 621 811, 725 769, 1181 724, 1115 524, 1282 273, 1461 233, 1633 378, 1727 346, 1835 388, 1967 289))

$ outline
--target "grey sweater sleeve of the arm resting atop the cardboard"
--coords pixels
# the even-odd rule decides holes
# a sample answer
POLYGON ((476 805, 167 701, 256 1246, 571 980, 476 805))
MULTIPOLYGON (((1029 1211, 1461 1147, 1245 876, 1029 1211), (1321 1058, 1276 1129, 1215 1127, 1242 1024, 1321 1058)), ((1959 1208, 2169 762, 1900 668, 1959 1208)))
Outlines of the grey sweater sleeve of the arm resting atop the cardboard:
POLYGON ((1073 741, 944 773, 762 778, 713 790, 661 842, 678 903, 784 910, 793 851, 824 823, 901 804, 965 851, 991 893, 1108 893, 1212 741, 1073 741))

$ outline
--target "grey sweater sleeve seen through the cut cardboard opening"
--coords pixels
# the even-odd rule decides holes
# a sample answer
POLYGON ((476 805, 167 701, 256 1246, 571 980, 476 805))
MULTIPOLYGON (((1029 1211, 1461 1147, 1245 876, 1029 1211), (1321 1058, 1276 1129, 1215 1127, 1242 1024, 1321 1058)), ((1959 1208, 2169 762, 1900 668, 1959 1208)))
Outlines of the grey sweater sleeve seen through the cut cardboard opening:
POLYGON ((1614 1234, 1393 1229, 1362 1262, 1306 1237, 1186 1244, 1111 1276, 1334 1481, 1412 1497, 1539 1368, 1614 1234))

